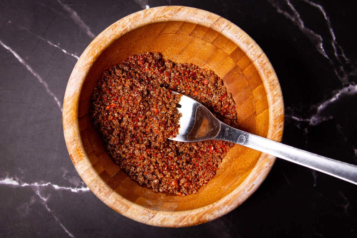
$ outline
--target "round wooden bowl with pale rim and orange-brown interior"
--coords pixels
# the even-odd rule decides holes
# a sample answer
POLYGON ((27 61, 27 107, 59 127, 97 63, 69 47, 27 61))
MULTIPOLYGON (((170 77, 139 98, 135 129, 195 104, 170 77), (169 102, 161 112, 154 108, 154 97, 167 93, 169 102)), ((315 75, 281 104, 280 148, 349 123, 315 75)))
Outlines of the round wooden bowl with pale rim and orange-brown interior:
POLYGON ((260 47, 238 26, 183 6, 154 7, 115 22, 90 43, 72 71, 63 103, 64 136, 72 162, 91 191, 120 214, 153 226, 211 221, 244 202, 275 157, 235 145, 216 176, 185 197, 154 193, 132 181, 107 154, 91 125, 89 106, 103 70, 147 51, 215 71, 233 95, 240 129, 280 141, 284 112, 277 76, 260 47))

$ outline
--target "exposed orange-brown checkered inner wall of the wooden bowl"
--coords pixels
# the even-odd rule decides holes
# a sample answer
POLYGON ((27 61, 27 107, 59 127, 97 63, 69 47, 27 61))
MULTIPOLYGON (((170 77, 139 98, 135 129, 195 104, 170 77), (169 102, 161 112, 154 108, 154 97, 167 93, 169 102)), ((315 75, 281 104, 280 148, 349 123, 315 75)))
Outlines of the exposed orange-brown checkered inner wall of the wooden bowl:
MULTIPOLYGON (((79 102, 79 127, 87 157, 117 196, 146 208, 185 211, 214 203, 237 188, 257 163, 261 152, 235 145, 223 159, 216 176, 198 193, 185 197, 154 193, 132 181, 108 155, 89 117, 90 100, 101 72, 132 54, 161 52, 176 63, 193 63, 213 70, 223 79, 236 102, 240 129, 266 137, 268 101, 258 71, 233 41, 208 27, 180 21, 156 22, 119 37, 91 67, 79 102)), ((249 189, 249 188, 247 188, 249 189)), ((108 195, 109 196, 109 195, 108 195)))

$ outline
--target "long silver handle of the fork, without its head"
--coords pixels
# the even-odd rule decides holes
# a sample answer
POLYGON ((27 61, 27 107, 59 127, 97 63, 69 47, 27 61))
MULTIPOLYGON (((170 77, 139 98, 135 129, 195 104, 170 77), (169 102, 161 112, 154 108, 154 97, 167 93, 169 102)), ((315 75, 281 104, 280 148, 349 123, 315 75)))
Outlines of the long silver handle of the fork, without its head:
POLYGON ((257 151, 273 155, 317 171, 330 174, 347 182, 357 184, 357 166, 335 159, 300 150, 292 146, 268 140, 264 137, 241 131, 221 122, 221 130, 214 138, 237 143, 257 151))

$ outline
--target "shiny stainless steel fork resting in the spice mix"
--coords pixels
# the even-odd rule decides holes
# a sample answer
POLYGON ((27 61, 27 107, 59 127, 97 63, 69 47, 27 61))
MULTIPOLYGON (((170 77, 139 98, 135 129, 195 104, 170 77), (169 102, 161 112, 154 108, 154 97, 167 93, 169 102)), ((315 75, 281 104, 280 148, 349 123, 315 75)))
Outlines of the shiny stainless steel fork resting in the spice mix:
POLYGON ((182 95, 178 111, 182 113, 180 128, 178 135, 171 140, 230 141, 357 184, 357 166, 235 129, 218 120, 205 106, 190 97, 182 95))

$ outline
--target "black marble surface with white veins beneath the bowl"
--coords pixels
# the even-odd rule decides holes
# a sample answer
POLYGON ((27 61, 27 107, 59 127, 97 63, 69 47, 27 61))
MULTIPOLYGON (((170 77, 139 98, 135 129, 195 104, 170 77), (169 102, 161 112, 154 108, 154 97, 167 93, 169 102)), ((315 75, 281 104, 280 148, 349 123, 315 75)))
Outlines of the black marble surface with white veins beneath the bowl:
POLYGON ((114 212, 75 171, 62 131, 67 80, 90 41, 146 7, 221 15, 263 49, 281 83, 283 143, 357 164, 353 1, 0 1, 0 237, 357 237, 357 186, 278 159, 215 221, 159 228, 114 212))

